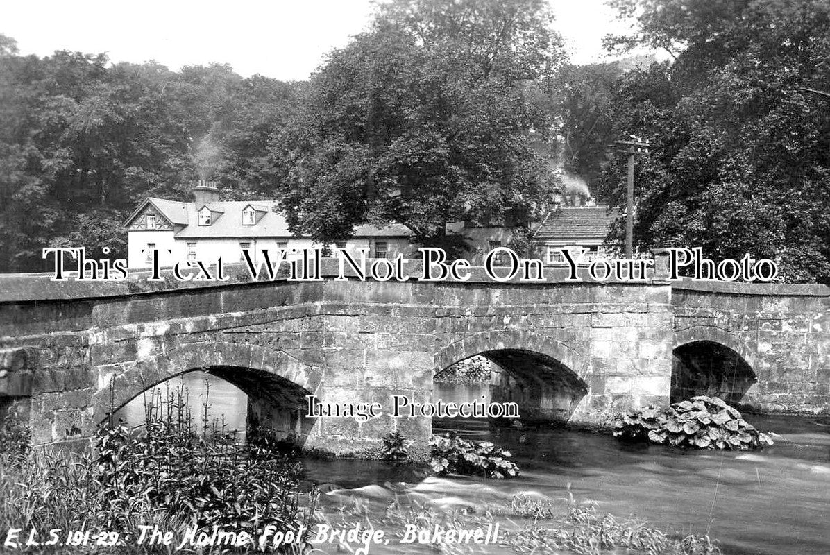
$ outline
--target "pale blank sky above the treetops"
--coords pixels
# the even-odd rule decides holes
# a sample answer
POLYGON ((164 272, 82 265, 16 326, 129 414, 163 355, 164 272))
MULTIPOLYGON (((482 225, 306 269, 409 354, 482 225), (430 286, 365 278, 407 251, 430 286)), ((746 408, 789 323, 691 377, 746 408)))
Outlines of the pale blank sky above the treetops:
MULTIPOLYGON (((624 32, 605 0, 549 0, 572 61, 603 61, 601 41, 624 32)), ((228 63, 243 76, 305 80, 331 49, 366 27, 371 0, 6 0, 0 33, 21 54, 106 52, 171 70, 228 63)))

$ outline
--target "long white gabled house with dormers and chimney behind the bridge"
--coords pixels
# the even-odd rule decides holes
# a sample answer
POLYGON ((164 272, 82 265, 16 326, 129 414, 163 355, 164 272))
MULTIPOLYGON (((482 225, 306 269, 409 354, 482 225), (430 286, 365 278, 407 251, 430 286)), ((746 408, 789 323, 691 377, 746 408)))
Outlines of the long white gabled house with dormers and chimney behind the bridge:
MULTIPOLYGON (((212 183, 194 187, 193 202, 146 199, 127 218, 125 227, 130 268, 149 267, 152 258, 147 251, 153 248, 160 251, 161 265, 170 266, 182 260, 217 260, 220 256, 226 263, 243 261, 242 249, 250 249, 258 257, 262 249, 276 252, 320 247, 310 237, 291 236, 286 217, 275 202, 220 201, 219 190, 212 183)), ((410 236, 408 227, 400 224, 357 226, 349 241, 336 246, 350 252, 368 248, 369 256, 387 258, 412 251, 410 236)))

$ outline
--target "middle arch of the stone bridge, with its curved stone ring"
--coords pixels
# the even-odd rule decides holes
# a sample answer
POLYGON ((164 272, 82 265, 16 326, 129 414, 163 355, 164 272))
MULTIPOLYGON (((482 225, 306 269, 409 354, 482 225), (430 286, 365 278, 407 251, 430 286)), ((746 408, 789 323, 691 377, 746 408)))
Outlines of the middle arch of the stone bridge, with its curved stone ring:
MULTIPOLYGON (((522 421, 568 421, 588 393, 587 364, 553 338, 519 330, 473 333, 437 353, 434 375, 483 357, 493 363, 491 402, 516 402, 522 421)), ((492 367, 491 367, 492 368, 492 367)))

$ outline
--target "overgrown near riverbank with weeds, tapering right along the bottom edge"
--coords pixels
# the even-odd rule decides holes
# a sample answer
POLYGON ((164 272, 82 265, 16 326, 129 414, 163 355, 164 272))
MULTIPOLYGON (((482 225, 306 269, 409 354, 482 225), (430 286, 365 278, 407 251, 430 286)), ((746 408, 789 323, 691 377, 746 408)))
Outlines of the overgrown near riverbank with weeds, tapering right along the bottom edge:
MULTIPOLYGON (((102 429, 95 453, 27 447, 7 420, 0 449, 4 549, 28 553, 665 553, 718 555, 710 538, 666 534, 595 504, 544 494, 462 499, 461 478, 395 466, 395 482, 339 488, 315 471, 346 460, 286 457, 268 436, 239 443, 170 397, 144 433, 102 429), (175 402, 174 402, 175 401, 175 402), (201 433, 198 433, 201 432, 201 433), (400 481, 412 478, 412 483, 400 481), (320 490, 324 493, 320 494, 320 490), (485 532, 486 530, 486 532, 485 532), (350 545, 354 544, 350 548, 350 545)), ((355 465, 369 461, 351 460, 355 465)), ((364 474, 365 475, 365 474, 364 474)), ((495 484, 496 480, 487 480, 495 484)), ((474 486, 476 495, 496 493, 474 486)))

